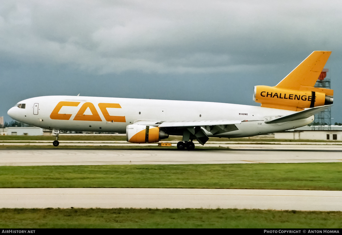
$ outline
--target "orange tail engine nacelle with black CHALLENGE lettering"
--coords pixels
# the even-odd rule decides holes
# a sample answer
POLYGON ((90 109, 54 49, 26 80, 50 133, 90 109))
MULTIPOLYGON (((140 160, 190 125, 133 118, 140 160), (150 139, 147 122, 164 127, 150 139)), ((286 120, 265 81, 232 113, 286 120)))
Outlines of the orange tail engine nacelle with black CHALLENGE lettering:
POLYGON ((332 96, 311 90, 290 90, 269 86, 255 86, 253 100, 261 107, 300 111, 332 104, 332 96))

